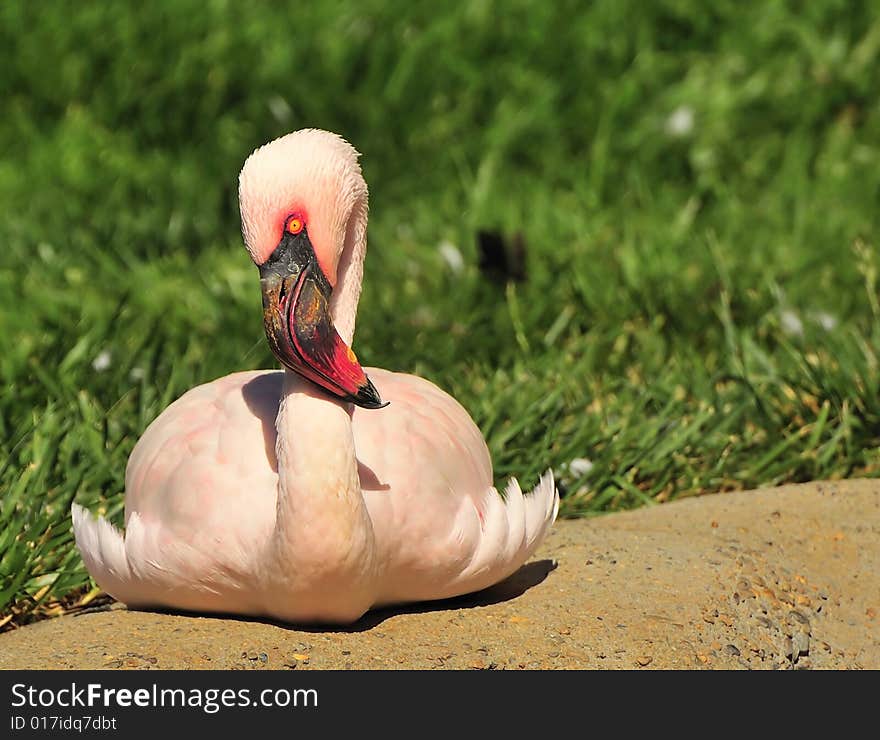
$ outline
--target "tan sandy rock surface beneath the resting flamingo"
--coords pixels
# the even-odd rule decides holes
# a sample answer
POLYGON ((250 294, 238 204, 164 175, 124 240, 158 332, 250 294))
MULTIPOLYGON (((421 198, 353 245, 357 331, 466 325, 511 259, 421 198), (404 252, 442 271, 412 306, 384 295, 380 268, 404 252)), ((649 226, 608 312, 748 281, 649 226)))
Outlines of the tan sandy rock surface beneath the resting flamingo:
POLYGON ((470 597, 347 630, 130 612, 0 635, 0 668, 880 668, 880 481, 558 522, 470 597))

